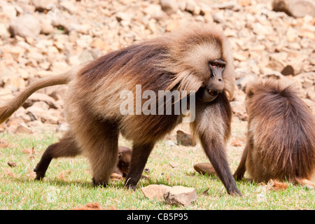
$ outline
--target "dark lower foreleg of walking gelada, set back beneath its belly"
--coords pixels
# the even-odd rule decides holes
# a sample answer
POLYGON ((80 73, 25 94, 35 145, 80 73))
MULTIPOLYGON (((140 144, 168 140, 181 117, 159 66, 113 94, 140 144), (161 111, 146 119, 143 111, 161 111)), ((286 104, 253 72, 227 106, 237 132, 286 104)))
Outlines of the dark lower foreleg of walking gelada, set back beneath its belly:
POLYGON ((141 174, 146 166, 146 161, 150 155, 155 143, 150 144, 134 144, 132 147, 132 160, 130 162, 130 170, 126 178, 125 187, 136 190, 137 183, 141 178, 141 174))

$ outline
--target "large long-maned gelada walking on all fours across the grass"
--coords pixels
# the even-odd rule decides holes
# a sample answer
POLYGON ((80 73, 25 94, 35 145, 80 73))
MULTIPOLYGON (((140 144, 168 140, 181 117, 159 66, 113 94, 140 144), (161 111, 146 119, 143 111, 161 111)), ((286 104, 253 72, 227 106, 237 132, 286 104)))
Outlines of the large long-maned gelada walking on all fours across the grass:
MULTIPOLYGON (((109 52, 72 71, 71 76, 59 75, 55 82, 52 80, 39 80, 0 109, 0 121, 3 121, 36 89, 69 82, 64 111, 70 129, 43 153, 34 169, 36 179, 43 178, 52 158, 73 157, 84 152, 90 161, 94 185, 106 185, 117 163, 121 133, 133 141, 125 186, 135 190, 155 142, 183 119, 182 111, 169 115, 143 111, 121 113, 120 106, 125 99, 120 93, 128 90, 132 92, 130 100, 137 99, 137 85, 141 85, 142 91, 155 94, 160 90, 184 92, 177 101, 186 99, 188 108, 195 109, 193 132, 228 193, 240 195, 225 154, 232 118, 229 100, 235 77, 228 38, 221 28, 193 24, 160 38, 109 52), (194 105, 190 105, 190 99, 195 99, 194 105)), ((141 100, 140 107, 145 103, 141 100)))

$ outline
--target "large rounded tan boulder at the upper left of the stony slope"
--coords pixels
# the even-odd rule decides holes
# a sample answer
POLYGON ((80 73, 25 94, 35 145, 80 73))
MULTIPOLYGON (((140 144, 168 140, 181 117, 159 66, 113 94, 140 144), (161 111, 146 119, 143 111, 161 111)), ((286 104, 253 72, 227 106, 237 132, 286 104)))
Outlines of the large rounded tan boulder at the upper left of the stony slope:
POLYGON ((9 31, 13 36, 36 38, 41 31, 41 23, 33 15, 20 15, 11 20, 9 31))

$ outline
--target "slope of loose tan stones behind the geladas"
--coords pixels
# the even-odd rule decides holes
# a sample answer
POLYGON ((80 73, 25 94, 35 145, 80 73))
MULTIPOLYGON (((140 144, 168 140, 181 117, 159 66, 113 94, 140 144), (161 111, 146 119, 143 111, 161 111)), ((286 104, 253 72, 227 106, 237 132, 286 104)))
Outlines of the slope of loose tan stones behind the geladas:
MULTIPOLYGON (((235 117, 246 120, 244 87, 261 76, 294 83, 315 115, 314 12, 311 0, 0 0, 0 104, 36 78, 200 21, 218 23, 232 43, 235 117)), ((64 88, 36 92, 0 132, 62 130, 64 88)))

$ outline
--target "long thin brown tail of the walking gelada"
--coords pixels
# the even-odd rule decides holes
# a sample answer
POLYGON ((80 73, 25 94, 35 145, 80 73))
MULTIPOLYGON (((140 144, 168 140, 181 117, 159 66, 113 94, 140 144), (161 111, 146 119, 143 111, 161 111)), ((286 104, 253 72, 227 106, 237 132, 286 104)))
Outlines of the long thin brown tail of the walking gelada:
POLYGON ((10 116, 17 111, 22 104, 24 104, 25 100, 27 100, 31 94, 43 87, 69 83, 74 74, 75 72, 71 70, 70 72, 68 71, 57 76, 38 79, 31 85, 27 86, 25 90, 18 94, 17 97, 14 97, 10 100, 10 102, 0 107, 0 124, 10 118, 10 116))

